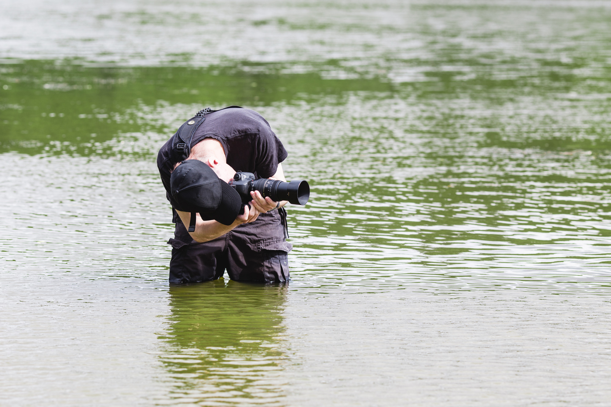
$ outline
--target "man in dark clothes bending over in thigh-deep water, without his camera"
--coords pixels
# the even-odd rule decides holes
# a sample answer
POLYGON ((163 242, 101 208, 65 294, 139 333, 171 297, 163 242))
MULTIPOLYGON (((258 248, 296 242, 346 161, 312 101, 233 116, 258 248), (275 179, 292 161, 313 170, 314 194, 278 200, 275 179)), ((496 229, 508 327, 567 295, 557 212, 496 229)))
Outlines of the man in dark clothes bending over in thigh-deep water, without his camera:
POLYGON ((228 185, 236 170, 285 181, 285 158, 269 123, 239 106, 198 112, 161 147, 157 166, 176 224, 170 282, 216 280, 225 270, 232 280, 288 281, 287 202, 255 191, 235 207, 239 194, 228 185))

